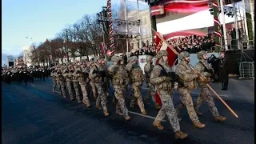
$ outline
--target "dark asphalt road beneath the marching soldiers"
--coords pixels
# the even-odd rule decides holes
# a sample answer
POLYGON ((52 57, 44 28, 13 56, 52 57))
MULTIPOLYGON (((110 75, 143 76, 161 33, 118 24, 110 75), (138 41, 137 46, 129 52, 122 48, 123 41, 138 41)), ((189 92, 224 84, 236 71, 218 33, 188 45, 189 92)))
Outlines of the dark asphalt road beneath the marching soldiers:
MULTIPOLYGON (((181 130, 189 134, 188 138, 176 140, 170 122, 162 122, 164 130, 152 125, 158 113, 152 103, 146 104, 148 116, 140 115, 138 107, 130 110, 132 119, 129 122, 115 114, 115 106, 111 102, 108 109, 110 116, 105 117, 102 110, 95 108, 95 101, 86 108, 82 103, 70 102, 53 93, 51 78, 46 82, 35 81, 34 84, 2 82, 2 143, 3 144, 38 144, 38 143, 207 143, 232 144, 254 143, 254 80, 230 78, 229 90, 221 91, 220 84, 212 87, 223 100, 238 114, 233 114, 214 96, 214 101, 226 122, 214 122, 206 103, 200 111, 200 121, 206 124, 205 129, 195 129, 186 109, 182 110, 181 130)), ((143 86, 142 95, 146 95, 143 86)), ((194 101, 198 90, 193 90, 194 101)), ((177 91, 174 93, 174 105, 180 102, 177 91)), ((126 105, 128 106, 128 105, 126 105)))

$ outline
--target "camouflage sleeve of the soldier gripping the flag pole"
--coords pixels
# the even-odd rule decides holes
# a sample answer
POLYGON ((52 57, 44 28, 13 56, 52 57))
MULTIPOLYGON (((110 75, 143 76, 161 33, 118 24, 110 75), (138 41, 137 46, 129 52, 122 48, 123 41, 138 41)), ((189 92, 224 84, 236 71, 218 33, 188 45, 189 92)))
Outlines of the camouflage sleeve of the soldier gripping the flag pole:
POLYGON ((178 74, 182 80, 187 82, 193 81, 194 78, 198 78, 197 74, 194 74, 192 70, 186 70, 186 68, 182 65, 178 65, 176 67, 176 74, 178 74))

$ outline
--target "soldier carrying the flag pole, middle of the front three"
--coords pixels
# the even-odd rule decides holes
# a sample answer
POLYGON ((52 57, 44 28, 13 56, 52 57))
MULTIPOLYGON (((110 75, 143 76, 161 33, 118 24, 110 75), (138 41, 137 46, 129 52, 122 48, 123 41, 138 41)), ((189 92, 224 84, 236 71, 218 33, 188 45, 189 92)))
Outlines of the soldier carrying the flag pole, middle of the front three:
POLYGON ((178 87, 178 93, 180 94, 182 104, 179 105, 176 109, 177 115, 179 114, 179 110, 181 110, 185 105, 187 113, 189 114, 191 121, 194 123, 194 127, 204 128, 206 125, 199 122, 198 115, 194 110, 194 104, 191 97, 191 90, 196 87, 196 78, 198 78, 200 74, 194 74, 194 72, 191 70, 189 64, 190 54, 188 52, 183 51, 179 54, 179 58, 181 62, 176 67, 176 74, 182 78, 184 86, 178 87))

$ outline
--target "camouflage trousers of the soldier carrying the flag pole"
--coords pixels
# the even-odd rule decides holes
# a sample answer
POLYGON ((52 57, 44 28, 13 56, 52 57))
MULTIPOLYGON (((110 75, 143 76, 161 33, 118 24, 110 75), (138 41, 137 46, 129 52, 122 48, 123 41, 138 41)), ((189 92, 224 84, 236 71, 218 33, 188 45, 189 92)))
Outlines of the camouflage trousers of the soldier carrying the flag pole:
POLYGON ((180 95, 180 98, 182 100, 182 104, 178 105, 176 107, 177 116, 179 114, 179 111, 182 110, 183 106, 186 106, 187 113, 190 116, 190 120, 192 122, 198 122, 198 115, 196 114, 194 110, 194 104, 191 97, 191 90, 187 90, 186 88, 179 88, 178 93, 180 95))

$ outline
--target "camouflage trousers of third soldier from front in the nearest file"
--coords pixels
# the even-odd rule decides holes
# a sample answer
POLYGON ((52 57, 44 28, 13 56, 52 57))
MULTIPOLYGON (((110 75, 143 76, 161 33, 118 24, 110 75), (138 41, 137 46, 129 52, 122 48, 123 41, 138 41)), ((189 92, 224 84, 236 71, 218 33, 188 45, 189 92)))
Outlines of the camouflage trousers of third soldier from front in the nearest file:
POLYGON ((101 83, 94 83, 97 91, 98 91, 98 98, 96 99, 96 106, 99 106, 99 104, 102 104, 103 110, 107 110, 106 108, 106 94, 104 93, 104 90, 102 89, 101 83))

